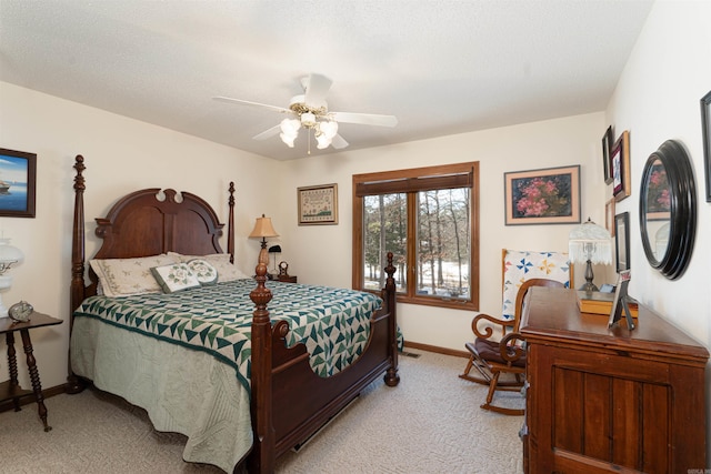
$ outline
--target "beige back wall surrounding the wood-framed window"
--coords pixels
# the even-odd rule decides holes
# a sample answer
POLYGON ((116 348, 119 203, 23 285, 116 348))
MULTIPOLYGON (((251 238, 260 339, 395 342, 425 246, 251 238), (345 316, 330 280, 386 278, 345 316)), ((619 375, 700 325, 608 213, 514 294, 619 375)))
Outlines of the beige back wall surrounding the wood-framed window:
MULTIPOLYGON (((282 256, 300 282, 349 286, 352 174, 479 161, 481 311, 500 315, 501 249, 567 252, 568 233, 573 228, 571 224, 504 225, 503 173, 581 164, 582 215, 604 224, 600 140, 605 128, 600 112, 286 162, 280 196, 291 205, 274 216, 282 233, 282 256), (296 188, 330 182, 338 183, 339 224, 299 226, 296 188)), ((599 272, 597 282, 604 281, 603 273, 599 272)), ((470 311, 405 304, 398 311, 407 341, 463 350, 464 342, 471 340, 470 323, 474 313, 470 311)))

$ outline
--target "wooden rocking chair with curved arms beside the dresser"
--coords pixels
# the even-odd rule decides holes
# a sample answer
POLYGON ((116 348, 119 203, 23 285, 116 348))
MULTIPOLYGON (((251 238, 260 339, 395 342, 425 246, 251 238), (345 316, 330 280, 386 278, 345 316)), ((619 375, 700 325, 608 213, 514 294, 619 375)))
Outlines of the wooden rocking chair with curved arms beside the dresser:
POLYGON ((498 390, 518 392, 523 386, 525 372, 525 350, 522 347, 519 325, 523 312, 523 300, 531 286, 563 288, 564 283, 548 279, 531 279, 524 281, 519 288, 515 297, 515 316, 512 320, 492 317, 488 314, 479 314, 471 322, 471 329, 477 335, 474 342, 464 344, 471 353, 464 373, 461 379, 489 385, 487 403, 481 407, 507 415, 522 415, 523 410, 507 409, 493 405, 494 393, 498 390), (495 340, 493 326, 501 330, 501 339, 495 340), (479 375, 470 375, 472 369, 477 369, 479 375), (502 375, 512 375, 512 380, 503 381, 502 375))

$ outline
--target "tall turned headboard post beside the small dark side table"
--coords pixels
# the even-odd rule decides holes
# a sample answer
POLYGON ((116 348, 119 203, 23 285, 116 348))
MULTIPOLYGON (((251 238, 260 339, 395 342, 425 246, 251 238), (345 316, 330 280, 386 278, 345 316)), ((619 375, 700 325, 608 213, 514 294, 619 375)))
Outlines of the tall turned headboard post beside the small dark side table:
MULTIPOLYGON (((71 235, 71 294, 69 307, 69 334, 74 322, 74 310, 84 299, 84 158, 78 154, 74 161, 74 220, 71 235)), ((67 392, 79 393, 84 387, 71 370, 71 356, 69 361, 69 376, 67 377, 67 392)))

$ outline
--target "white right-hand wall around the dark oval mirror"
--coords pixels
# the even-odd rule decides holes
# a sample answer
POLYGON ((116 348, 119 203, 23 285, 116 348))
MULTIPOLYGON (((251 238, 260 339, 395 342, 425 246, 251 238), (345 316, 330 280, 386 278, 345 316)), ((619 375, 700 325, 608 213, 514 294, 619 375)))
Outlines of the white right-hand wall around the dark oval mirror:
MULTIPOLYGON (((632 199, 619 211, 631 215, 630 293, 711 347, 711 203, 705 202, 699 100, 711 90, 711 2, 657 1, 607 112, 609 123, 630 130, 632 199), (681 141, 697 178, 697 240, 687 272, 669 281, 647 263, 639 236, 642 168, 665 140, 681 141)), ((707 370, 707 373, 709 370, 707 370)), ((707 376, 707 450, 711 452, 711 390, 707 376)), ((701 387, 689 387, 701 390, 701 387)), ((703 416, 699 413, 699 416, 703 416)), ((709 467, 709 465, 707 465, 709 467)))

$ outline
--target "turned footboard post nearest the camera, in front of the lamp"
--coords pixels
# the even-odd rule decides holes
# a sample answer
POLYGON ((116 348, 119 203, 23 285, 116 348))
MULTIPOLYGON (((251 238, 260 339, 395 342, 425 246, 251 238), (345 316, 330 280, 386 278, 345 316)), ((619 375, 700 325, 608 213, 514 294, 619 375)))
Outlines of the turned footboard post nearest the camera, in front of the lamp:
POLYGON ((267 304, 271 290, 264 286, 267 265, 257 265, 257 288, 249 297, 257 305, 252 317, 251 412, 254 441, 249 455, 249 472, 273 473, 276 456, 276 432, 272 423, 271 387, 271 322, 267 304))

